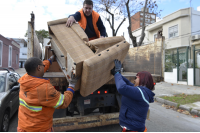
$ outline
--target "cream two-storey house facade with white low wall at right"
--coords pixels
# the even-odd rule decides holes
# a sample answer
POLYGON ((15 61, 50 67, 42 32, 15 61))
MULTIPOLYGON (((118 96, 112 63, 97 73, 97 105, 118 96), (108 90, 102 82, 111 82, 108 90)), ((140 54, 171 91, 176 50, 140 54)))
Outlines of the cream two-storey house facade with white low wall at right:
MULTIPOLYGON (((150 24, 145 30, 143 45, 154 42, 158 32, 165 37, 164 42, 164 80, 170 83, 197 85, 191 79, 193 69, 193 38, 200 35, 200 11, 184 8, 165 16, 162 20, 150 24)), ((133 31, 140 39, 141 28, 133 31)), ((200 59, 200 58, 199 58, 200 59)))

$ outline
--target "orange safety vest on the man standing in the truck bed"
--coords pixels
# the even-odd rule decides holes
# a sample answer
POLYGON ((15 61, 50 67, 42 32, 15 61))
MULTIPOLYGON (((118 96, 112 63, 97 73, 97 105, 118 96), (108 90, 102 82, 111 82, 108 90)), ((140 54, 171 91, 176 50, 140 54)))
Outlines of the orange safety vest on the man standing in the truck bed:
MULTIPOLYGON (((84 13, 83 13, 83 9, 81 9, 79 12, 81 14, 81 19, 78 21, 78 23, 85 30, 86 25, 87 25, 87 20, 86 20, 84 13)), ((97 38, 100 38, 100 32, 99 32, 98 27, 97 27, 97 21, 99 19, 99 16, 100 15, 97 12, 95 12, 94 10, 92 11, 92 23, 93 23, 94 31, 97 35, 97 38)))

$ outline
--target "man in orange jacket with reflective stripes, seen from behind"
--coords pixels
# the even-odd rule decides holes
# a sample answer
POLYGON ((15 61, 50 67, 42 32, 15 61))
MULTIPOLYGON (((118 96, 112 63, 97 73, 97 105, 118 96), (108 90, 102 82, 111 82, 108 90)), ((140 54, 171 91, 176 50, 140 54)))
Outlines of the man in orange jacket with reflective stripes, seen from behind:
POLYGON ((54 60, 54 55, 43 62, 36 57, 25 62, 26 74, 19 79, 18 132, 53 131, 53 113, 55 109, 67 108, 70 104, 78 77, 71 75, 69 87, 64 95, 43 78, 54 60))

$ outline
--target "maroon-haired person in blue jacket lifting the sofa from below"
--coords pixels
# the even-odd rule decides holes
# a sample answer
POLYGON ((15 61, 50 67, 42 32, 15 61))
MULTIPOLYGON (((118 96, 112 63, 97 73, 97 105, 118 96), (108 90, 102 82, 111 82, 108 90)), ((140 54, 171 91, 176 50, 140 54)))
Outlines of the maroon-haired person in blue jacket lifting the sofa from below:
POLYGON ((154 82, 146 71, 137 73, 135 84, 121 75, 121 62, 115 59, 111 74, 115 77, 118 92, 122 95, 119 124, 122 132, 146 132, 145 120, 149 103, 154 102, 154 82))

